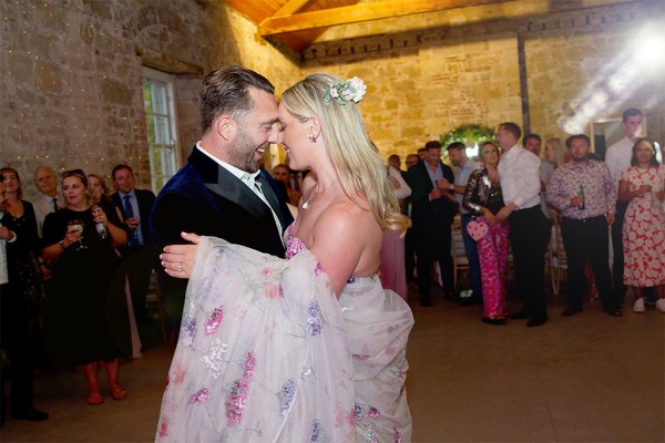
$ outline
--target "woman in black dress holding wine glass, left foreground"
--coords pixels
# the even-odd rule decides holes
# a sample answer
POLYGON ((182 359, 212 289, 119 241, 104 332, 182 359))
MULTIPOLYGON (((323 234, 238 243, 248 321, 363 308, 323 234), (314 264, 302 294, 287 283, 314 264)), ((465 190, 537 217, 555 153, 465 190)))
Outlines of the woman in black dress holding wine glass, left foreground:
POLYGON ((89 404, 103 402, 100 363, 111 396, 121 400, 126 391, 117 381, 117 358, 127 353, 129 328, 113 248, 126 243, 126 234, 115 212, 89 205, 83 171, 64 172, 62 192, 66 206, 49 214, 43 226, 43 257, 55 261, 45 316, 49 350, 55 363, 82 370, 89 404))

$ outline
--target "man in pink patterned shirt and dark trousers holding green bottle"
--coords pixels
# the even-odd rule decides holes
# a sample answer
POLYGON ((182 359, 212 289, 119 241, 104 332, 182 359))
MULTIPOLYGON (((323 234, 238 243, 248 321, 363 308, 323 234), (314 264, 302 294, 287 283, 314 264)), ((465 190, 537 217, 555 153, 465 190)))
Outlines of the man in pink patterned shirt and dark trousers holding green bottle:
POLYGON ((608 259, 608 226, 614 223, 616 188, 610 168, 589 158, 591 142, 584 134, 565 141, 572 162, 554 171, 548 186, 548 203, 561 212, 561 234, 569 275, 569 305, 563 317, 582 311, 586 280, 584 267, 591 262, 603 310, 620 317, 618 300, 612 290, 608 259))

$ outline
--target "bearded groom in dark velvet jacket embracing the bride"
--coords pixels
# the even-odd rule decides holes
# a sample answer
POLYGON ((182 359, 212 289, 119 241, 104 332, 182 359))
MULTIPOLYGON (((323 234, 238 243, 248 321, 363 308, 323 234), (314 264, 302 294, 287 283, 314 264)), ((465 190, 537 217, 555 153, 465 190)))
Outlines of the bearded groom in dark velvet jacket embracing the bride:
MULTIPOLYGON (((150 217, 150 237, 160 254, 185 243, 181 233, 215 236, 284 257, 283 234, 293 222, 286 196, 258 168, 277 140, 275 87, 239 66, 208 73, 200 94, 203 137, 187 164, 162 188, 150 217)), ((177 333, 187 280, 160 268, 164 315, 177 333)))

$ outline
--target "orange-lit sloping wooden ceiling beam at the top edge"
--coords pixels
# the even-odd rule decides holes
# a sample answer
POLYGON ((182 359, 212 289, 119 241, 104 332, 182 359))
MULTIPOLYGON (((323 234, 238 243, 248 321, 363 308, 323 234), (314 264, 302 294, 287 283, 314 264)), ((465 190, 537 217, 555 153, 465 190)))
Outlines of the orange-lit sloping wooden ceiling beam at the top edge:
MULTIPOLYGON (((275 14, 258 25, 258 34, 274 35, 306 29, 335 27, 481 4, 504 3, 507 1, 514 0, 383 0, 374 3, 291 13, 285 17, 277 17, 275 14)), ((301 0, 290 0, 285 7, 291 2, 295 6, 301 2, 301 0)))

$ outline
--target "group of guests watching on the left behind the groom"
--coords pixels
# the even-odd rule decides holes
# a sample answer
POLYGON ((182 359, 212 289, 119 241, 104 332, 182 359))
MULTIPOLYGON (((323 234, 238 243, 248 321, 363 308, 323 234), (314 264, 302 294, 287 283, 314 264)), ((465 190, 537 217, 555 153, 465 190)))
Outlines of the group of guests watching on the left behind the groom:
MULTIPOLYGON (((140 356, 146 338, 139 332, 146 331, 141 327, 151 261, 140 253, 147 238, 141 220, 147 220, 155 196, 134 188, 127 165, 114 167, 111 177, 113 195, 102 175, 70 169, 59 177, 40 166, 33 177, 39 197, 28 202, 18 171, 0 169, 1 338, 8 361, 2 379, 11 380, 14 419, 49 416, 32 404, 37 369, 81 371, 91 405, 104 400, 100 368, 110 396, 127 395, 119 362, 140 356)), ((1 398, 4 422, 4 392, 1 398)))

